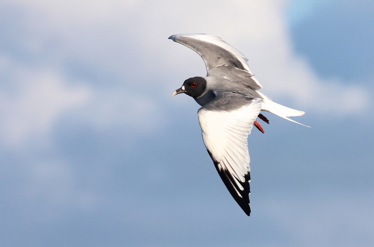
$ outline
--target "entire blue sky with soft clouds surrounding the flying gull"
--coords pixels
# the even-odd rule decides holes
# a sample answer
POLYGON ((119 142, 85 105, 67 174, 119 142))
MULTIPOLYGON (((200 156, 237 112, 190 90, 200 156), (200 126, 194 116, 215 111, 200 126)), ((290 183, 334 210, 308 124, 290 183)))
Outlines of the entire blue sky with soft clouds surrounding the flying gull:
POLYGON ((1 246, 373 246, 371 1, 0 0, 1 246), (168 37, 248 57, 275 102, 248 137, 251 216, 205 150, 205 76, 168 37))

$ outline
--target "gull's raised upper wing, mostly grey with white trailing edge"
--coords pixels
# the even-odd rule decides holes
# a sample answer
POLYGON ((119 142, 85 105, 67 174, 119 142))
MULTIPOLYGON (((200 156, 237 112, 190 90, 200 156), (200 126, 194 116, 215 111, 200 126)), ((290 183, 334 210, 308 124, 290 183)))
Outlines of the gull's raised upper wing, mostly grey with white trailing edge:
POLYGON ((229 65, 251 73, 247 64, 248 58, 220 37, 194 33, 174 34, 169 39, 196 51, 203 58, 207 71, 220 65, 229 65))

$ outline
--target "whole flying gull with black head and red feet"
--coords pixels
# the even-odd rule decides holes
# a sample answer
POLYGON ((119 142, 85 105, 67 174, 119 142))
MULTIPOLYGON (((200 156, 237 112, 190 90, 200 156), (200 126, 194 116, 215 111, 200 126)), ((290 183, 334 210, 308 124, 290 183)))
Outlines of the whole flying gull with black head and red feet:
POLYGON ((249 216, 247 138, 254 125, 264 133, 257 117, 269 123, 260 111, 295 123, 288 117, 304 112, 279 105, 260 93, 262 86, 249 70, 248 58, 220 37, 199 33, 175 34, 169 39, 193 49, 205 62, 207 76, 187 79, 171 97, 185 93, 202 106, 197 116, 206 150, 230 194, 249 216))

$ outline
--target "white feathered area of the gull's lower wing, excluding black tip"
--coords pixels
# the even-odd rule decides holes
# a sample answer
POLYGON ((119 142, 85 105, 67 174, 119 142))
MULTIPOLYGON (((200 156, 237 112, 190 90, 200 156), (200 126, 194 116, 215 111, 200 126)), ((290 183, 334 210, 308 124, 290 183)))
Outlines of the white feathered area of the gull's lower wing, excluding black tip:
MULTIPOLYGON (((240 183, 251 170, 249 166, 248 140, 253 122, 260 112, 260 100, 242 106, 235 111, 211 111, 200 108, 198 112, 202 137, 206 149, 217 161, 218 169, 232 175, 230 182, 244 190, 240 183)), ((242 198, 236 186, 232 186, 242 198)))

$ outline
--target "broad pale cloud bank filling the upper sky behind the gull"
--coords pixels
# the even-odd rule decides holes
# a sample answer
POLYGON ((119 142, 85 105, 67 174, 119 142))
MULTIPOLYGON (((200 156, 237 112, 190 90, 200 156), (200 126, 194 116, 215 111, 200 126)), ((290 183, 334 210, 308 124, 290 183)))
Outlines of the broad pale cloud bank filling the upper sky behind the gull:
POLYGON ((278 103, 285 99, 290 107, 335 116, 364 111, 370 104, 365 88, 319 78, 295 54, 285 18, 288 4, 8 1, 6 7, 22 13, 20 20, 10 20, 23 27, 12 30, 22 40, 18 49, 34 63, 20 61, 11 51, 2 56, 2 73, 12 86, 0 89, 0 135, 12 145, 46 135, 64 113, 77 109, 84 121, 104 128, 116 122, 132 127, 150 117, 162 123, 168 114, 163 112, 166 92, 205 73, 197 54, 167 40, 175 33, 222 37, 249 58, 263 93, 278 103), (108 79, 77 75, 85 69, 108 79))

